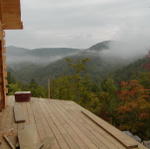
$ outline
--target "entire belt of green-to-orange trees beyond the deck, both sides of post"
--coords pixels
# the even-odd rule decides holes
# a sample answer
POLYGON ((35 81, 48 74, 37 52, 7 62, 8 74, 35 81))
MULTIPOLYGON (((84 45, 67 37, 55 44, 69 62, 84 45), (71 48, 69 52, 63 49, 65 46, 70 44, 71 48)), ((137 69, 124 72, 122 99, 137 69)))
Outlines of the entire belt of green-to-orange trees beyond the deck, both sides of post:
MULTIPOLYGON (((113 69, 105 77, 99 75, 100 81, 94 81, 87 71, 90 61, 83 57, 66 58, 64 63, 69 73, 51 78, 51 98, 73 100, 119 129, 148 139, 150 58, 137 60, 116 71, 113 69)), ((9 94, 17 90, 31 90, 33 96, 47 97, 47 89, 39 82, 32 79, 30 83, 22 84, 10 75, 9 94)))

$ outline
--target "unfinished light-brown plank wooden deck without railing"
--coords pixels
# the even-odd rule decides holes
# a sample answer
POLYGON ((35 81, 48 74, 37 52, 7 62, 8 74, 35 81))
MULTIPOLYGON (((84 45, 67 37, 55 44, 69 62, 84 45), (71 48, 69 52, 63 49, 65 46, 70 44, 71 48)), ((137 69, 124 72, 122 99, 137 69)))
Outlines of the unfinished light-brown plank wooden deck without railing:
MULTIPOLYGON (((0 113, 0 134, 15 132, 32 125, 40 143, 50 138, 51 149, 146 149, 143 145, 118 131, 91 112, 72 101, 32 98, 19 103, 25 112, 26 122, 15 123, 13 116, 14 97, 7 100, 6 109, 0 113), (129 145, 128 147, 126 145, 129 145)), ((15 143, 14 137, 11 138, 15 143)), ((2 139, 0 149, 9 149, 2 139)))

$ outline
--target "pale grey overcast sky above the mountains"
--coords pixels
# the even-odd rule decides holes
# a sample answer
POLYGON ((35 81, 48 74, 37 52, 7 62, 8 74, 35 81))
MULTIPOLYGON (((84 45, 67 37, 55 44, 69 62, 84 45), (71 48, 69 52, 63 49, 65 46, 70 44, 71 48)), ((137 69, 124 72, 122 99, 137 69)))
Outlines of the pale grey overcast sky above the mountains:
POLYGON ((87 48, 132 36, 150 41, 150 0, 21 0, 24 30, 7 45, 87 48))

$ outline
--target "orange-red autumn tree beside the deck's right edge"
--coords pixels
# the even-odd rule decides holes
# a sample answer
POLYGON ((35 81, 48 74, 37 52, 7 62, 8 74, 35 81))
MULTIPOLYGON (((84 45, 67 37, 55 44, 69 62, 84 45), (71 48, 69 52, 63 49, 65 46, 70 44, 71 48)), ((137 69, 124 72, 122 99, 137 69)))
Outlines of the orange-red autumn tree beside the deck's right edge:
POLYGON ((120 85, 119 128, 139 135, 150 135, 150 132, 146 134, 150 129, 146 127, 150 119, 150 90, 145 89, 137 80, 121 82, 120 85))

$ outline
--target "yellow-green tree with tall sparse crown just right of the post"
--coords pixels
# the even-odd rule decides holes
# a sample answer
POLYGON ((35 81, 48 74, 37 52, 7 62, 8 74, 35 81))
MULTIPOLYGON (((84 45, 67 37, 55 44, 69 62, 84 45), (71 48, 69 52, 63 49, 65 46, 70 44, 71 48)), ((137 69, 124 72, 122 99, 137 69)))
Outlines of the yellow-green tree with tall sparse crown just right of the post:
POLYGON ((81 106, 96 112, 99 99, 92 91, 93 85, 86 72, 88 58, 72 60, 66 59, 72 74, 61 76, 52 83, 52 97, 64 100, 73 100, 81 106))

